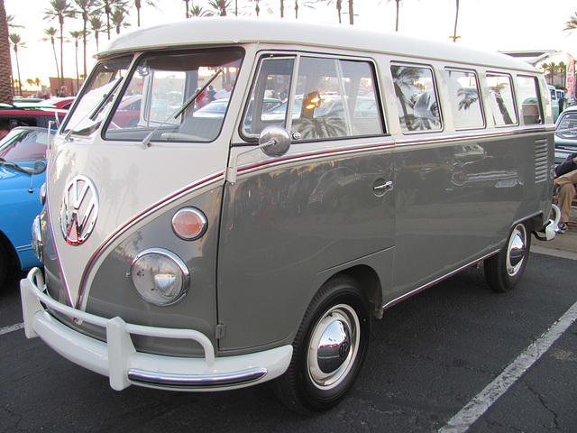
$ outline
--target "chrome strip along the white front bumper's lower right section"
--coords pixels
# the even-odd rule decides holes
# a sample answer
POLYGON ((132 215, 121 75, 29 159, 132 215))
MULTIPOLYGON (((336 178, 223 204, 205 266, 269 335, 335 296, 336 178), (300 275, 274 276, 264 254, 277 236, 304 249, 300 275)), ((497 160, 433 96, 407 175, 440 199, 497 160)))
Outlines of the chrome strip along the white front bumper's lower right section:
POLYGON ((254 367, 240 372, 221 374, 171 374, 147 372, 139 368, 131 368, 128 370, 128 379, 131 382, 146 383, 163 387, 197 389, 219 388, 223 386, 255 382, 267 373, 269 373, 269 371, 263 367, 254 367))

